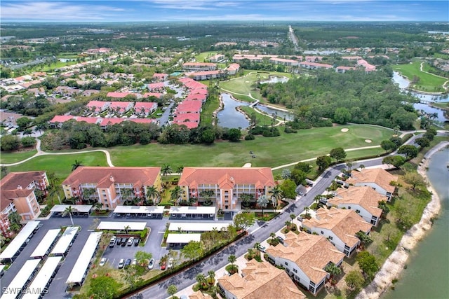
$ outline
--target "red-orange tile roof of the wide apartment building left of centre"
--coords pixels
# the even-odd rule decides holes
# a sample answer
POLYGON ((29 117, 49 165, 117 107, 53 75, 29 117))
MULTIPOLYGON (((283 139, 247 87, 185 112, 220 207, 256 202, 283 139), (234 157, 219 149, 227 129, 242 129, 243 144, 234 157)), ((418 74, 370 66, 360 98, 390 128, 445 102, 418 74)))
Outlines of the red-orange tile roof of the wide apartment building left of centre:
POLYGON ((115 183, 142 182, 143 186, 153 186, 161 167, 86 167, 80 166, 72 172, 62 185, 79 183, 103 183, 110 186, 111 176, 115 183))

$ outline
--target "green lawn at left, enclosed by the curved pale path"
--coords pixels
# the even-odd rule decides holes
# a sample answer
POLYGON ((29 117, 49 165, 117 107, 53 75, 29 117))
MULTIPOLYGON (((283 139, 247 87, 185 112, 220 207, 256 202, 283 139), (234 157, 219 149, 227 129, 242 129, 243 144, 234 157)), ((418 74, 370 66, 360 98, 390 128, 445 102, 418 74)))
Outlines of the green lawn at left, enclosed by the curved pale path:
POLYGON ((66 178, 72 172, 75 160, 85 166, 107 166, 106 156, 101 152, 78 153, 73 155, 41 155, 20 165, 8 167, 9 172, 46 170, 59 178, 66 178))

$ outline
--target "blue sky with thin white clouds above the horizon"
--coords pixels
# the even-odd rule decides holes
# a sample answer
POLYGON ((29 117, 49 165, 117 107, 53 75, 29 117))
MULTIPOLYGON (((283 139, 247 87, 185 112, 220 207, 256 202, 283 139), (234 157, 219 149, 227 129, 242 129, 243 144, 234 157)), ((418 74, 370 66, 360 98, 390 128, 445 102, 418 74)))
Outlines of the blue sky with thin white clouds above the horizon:
POLYGON ((1 22, 449 22, 449 1, 1 0, 1 22))

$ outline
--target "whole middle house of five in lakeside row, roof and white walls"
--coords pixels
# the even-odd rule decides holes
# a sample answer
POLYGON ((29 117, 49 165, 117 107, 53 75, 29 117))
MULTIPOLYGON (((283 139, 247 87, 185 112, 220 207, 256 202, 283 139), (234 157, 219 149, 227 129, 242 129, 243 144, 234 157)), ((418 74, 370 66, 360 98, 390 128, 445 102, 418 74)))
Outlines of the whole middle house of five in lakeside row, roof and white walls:
POLYGON ((328 238, 330 243, 348 257, 360 244, 356 233, 362 231, 368 235, 372 227, 356 211, 335 207, 321 208, 316 211, 316 218, 302 221, 302 228, 328 238))

